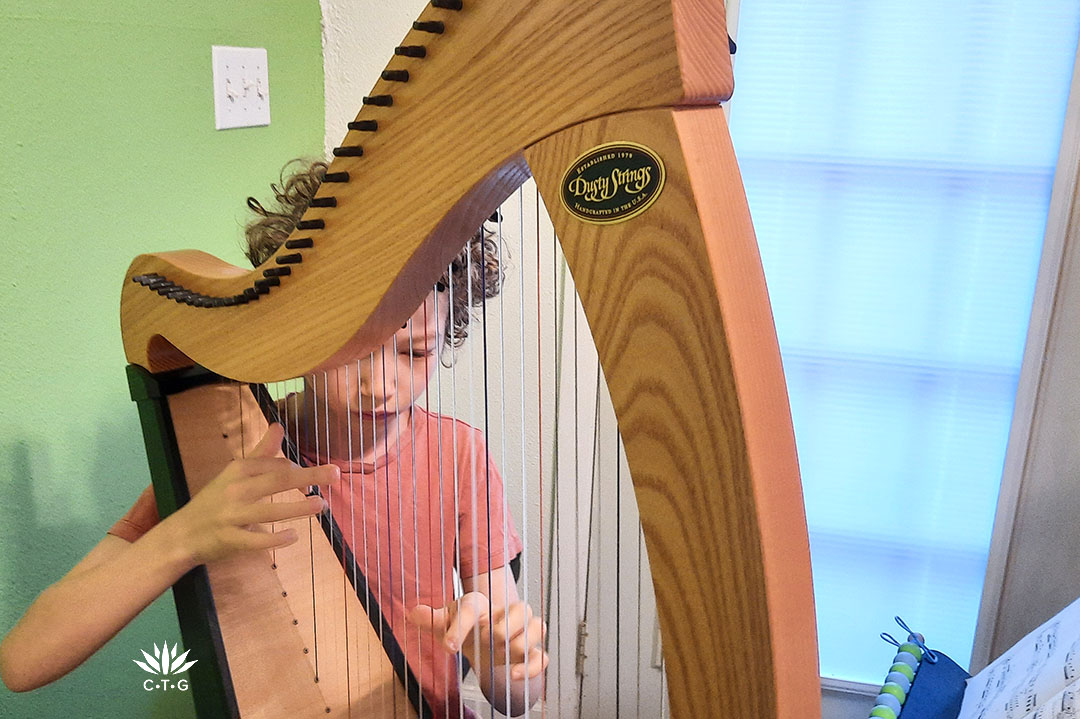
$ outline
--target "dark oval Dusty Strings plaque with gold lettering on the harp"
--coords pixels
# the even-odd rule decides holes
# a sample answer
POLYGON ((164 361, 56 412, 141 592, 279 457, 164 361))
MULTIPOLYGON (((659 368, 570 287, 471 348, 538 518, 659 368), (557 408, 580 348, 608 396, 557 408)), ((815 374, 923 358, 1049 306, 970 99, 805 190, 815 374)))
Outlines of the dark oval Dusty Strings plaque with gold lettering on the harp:
POLYGON ((660 155, 636 143, 607 143, 573 161, 563 175, 566 211, 583 222, 611 225, 637 217, 664 189, 660 155))

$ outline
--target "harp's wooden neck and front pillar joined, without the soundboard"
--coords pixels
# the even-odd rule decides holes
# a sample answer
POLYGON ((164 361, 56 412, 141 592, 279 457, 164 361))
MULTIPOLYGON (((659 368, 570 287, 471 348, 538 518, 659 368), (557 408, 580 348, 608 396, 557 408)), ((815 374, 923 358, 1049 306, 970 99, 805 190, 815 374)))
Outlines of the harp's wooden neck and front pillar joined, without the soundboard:
POLYGON ((531 173, 625 442, 672 716, 818 716, 794 436, 717 105, 732 90, 723 3, 438 1, 388 70, 318 193, 336 206, 311 208, 293 247, 254 271, 194 252, 134 260, 129 361, 252 382, 342 365, 402 325, 531 173), (608 143, 649 148, 666 181, 636 217, 582 222, 561 184, 608 143))

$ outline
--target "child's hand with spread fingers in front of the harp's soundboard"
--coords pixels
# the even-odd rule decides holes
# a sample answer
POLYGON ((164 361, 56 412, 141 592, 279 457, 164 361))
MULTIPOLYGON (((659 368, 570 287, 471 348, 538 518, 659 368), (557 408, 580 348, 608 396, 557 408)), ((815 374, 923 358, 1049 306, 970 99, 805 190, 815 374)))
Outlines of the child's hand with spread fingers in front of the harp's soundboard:
POLYGON ((229 462, 221 474, 168 518, 176 523, 180 545, 192 566, 240 552, 287 546, 297 539, 295 530, 268 532, 259 525, 312 516, 326 507, 321 497, 264 501, 276 492, 327 485, 339 477, 333 464, 301 467, 275 457, 282 436, 282 426, 271 424, 248 457, 229 462))

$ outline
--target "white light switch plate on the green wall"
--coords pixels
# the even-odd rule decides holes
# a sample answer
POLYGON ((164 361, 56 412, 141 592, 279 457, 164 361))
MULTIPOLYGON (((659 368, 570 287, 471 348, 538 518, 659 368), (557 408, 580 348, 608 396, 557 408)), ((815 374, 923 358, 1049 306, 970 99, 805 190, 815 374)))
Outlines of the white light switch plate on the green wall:
POLYGON ((266 48, 214 45, 214 126, 270 124, 270 76, 266 48))

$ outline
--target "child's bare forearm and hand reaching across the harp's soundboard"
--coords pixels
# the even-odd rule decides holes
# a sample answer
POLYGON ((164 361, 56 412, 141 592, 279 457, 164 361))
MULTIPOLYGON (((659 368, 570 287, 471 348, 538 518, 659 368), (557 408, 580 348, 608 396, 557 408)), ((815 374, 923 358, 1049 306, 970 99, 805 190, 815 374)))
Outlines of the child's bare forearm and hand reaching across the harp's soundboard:
POLYGON ((293 530, 270 533, 258 525, 318 514, 325 507, 322 498, 262 500, 330 484, 338 471, 334 465, 301 469, 274 457, 281 439, 281 425, 271 425, 246 459, 231 462, 188 504, 135 542, 106 535, 41 593, 0 642, 0 679, 14 691, 58 679, 191 568, 295 542, 293 530))

